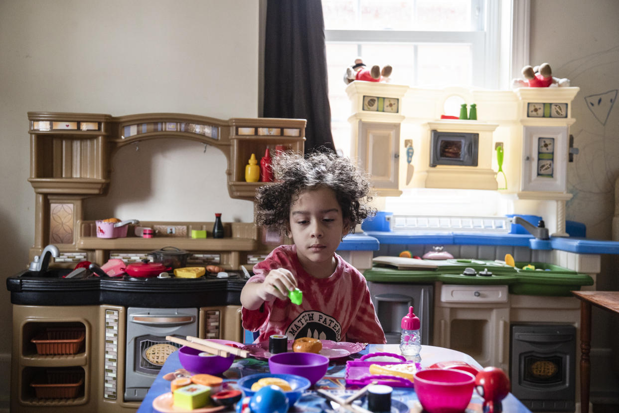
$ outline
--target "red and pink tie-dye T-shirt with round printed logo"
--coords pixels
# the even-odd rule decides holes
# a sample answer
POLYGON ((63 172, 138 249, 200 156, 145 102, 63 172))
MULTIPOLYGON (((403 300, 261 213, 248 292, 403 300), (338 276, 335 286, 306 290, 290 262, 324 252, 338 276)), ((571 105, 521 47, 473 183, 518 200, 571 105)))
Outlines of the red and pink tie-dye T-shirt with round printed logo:
POLYGON ((385 343, 365 278, 355 267, 335 254, 337 267, 325 279, 314 278, 301 266, 295 245, 278 246, 267 258, 254 266, 248 282, 263 282, 272 269, 288 269, 303 292, 303 302, 275 299, 258 310, 243 307, 243 328, 260 331, 259 341, 272 334, 289 339, 314 337, 321 340, 385 343))

